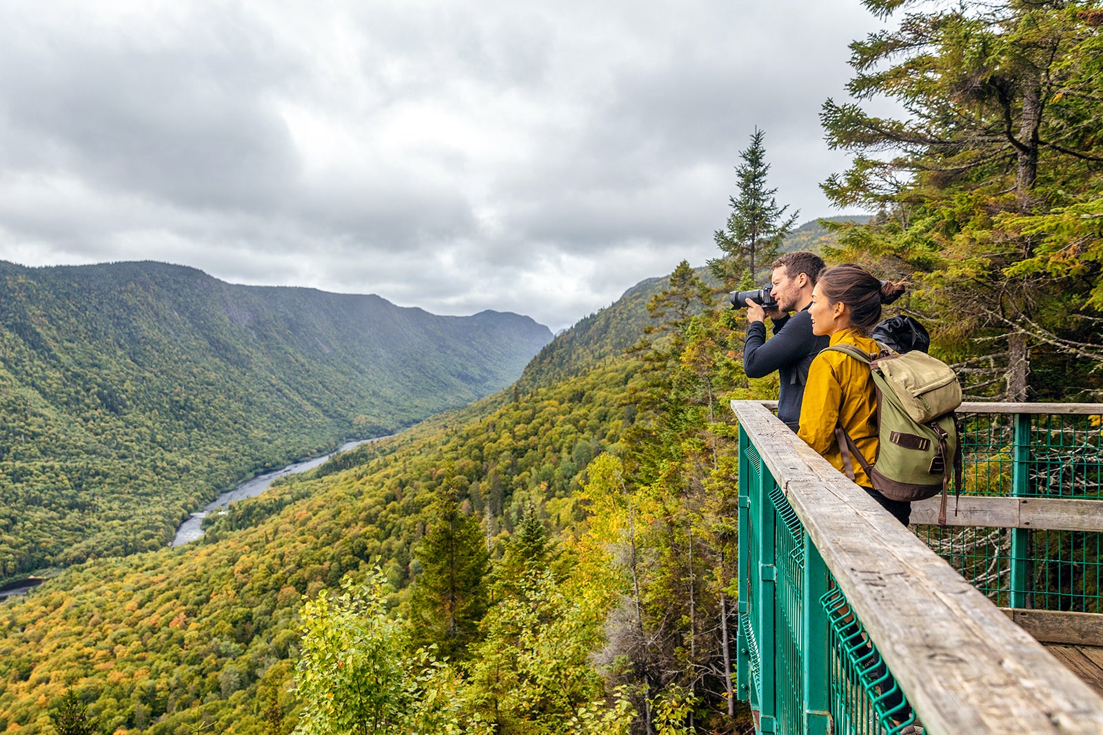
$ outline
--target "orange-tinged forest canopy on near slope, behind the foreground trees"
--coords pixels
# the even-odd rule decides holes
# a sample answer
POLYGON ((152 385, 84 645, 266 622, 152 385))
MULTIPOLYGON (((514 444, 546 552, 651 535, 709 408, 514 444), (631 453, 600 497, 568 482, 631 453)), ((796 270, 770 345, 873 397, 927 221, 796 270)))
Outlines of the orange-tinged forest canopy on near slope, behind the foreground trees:
MULTIPOLYGON (((520 402, 496 394, 435 417, 235 504, 203 542, 90 561, 7 601, 0 727, 52 733, 39 699, 72 684, 105 732, 150 735, 192 725, 267 735, 276 692, 287 735, 300 712, 287 690, 302 595, 338 588, 345 574, 364 579, 378 560, 396 591, 388 609, 407 609, 414 550, 448 466, 468 482, 461 510, 470 506, 481 519, 481 542, 496 558, 529 507, 549 533, 569 534, 586 517, 575 493, 587 465, 614 450, 631 423, 625 386, 634 371, 622 358, 520 402)), ((619 590, 603 571, 586 569, 596 588, 619 590)))

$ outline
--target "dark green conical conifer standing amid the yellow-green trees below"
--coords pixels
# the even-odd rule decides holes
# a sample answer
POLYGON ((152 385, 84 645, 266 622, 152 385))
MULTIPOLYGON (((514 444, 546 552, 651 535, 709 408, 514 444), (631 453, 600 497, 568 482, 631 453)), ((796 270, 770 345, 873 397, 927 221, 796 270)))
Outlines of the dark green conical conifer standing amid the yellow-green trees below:
POLYGON ((461 509, 463 491, 452 467, 437 488, 433 520, 415 555, 421 573, 410 595, 411 637, 417 645, 437 645, 451 660, 465 657, 479 636, 486 612, 483 580, 490 553, 479 521, 461 509))

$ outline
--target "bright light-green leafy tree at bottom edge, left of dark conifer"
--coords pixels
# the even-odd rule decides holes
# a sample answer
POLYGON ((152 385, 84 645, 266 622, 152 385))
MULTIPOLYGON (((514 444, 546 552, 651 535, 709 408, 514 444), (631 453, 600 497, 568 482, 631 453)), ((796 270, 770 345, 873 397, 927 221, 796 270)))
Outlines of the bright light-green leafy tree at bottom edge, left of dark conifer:
POLYGON ((407 653, 403 626, 384 608, 378 569, 342 594, 322 592, 302 607, 302 656, 296 690, 303 702, 297 734, 458 733, 457 681, 424 649, 407 653))

